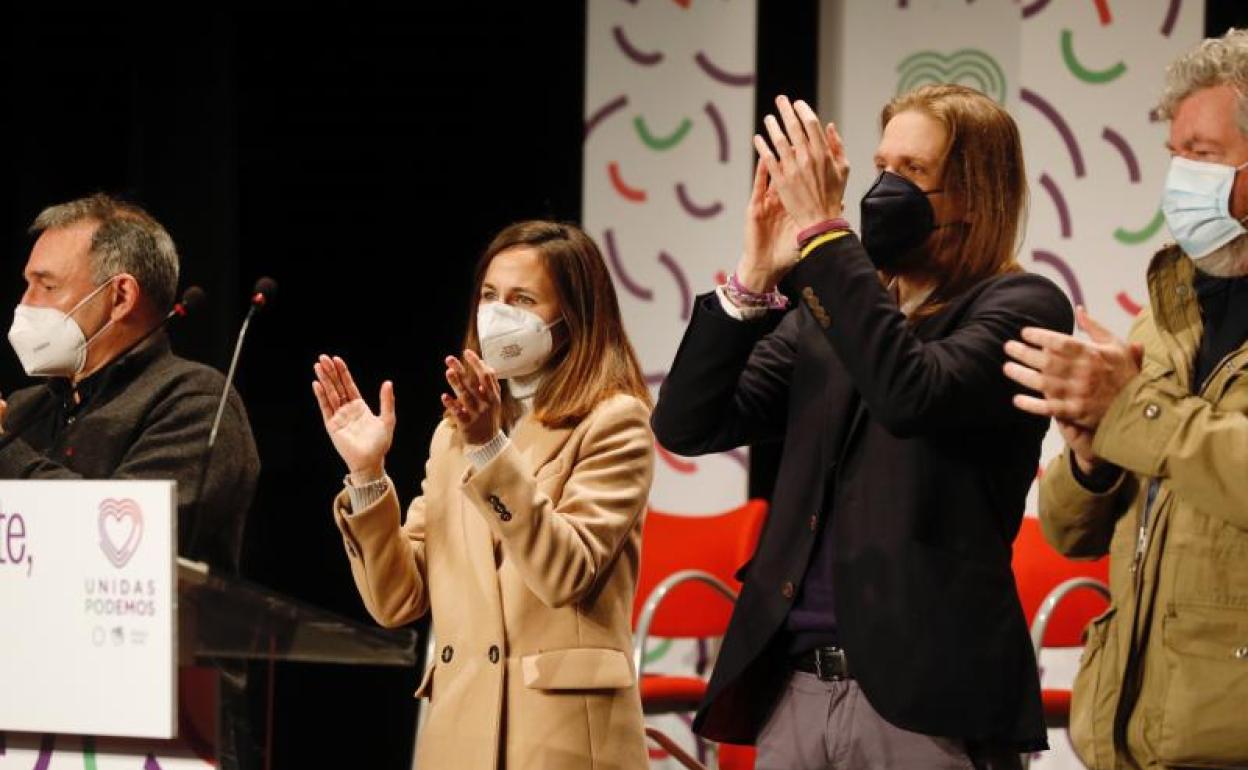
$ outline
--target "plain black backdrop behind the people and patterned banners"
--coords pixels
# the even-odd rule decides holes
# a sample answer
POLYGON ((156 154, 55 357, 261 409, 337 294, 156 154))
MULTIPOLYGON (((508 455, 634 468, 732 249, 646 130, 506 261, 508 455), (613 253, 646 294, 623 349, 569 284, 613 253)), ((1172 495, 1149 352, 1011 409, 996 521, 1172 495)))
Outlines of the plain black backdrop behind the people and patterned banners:
MULTIPOLYGON (((477 255, 510 221, 579 218, 585 5, 167 16, 30 5, 9 9, 0 31, 0 307, 21 295, 39 210, 97 190, 149 208, 178 245, 182 286, 207 290, 208 307, 173 332, 188 358, 223 369, 251 286, 275 277, 237 383, 263 462, 243 572, 367 620, 329 518, 343 467, 314 408, 312 362, 341 353, 374 403, 394 379, 388 467, 409 498, 477 255)), ((815 96, 817 24, 815 0, 759 5, 763 114, 776 92, 815 96)), ((1248 4, 1207 7, 1209 34, 1248 25, 1248 4)), ((0 347, 11 391, 21 371, 0 347)), ((756 457, 759 492, 775 457, 756 457)), ((273 766, 406 768, 416 681, 412 670, 280 665, 273 766)))

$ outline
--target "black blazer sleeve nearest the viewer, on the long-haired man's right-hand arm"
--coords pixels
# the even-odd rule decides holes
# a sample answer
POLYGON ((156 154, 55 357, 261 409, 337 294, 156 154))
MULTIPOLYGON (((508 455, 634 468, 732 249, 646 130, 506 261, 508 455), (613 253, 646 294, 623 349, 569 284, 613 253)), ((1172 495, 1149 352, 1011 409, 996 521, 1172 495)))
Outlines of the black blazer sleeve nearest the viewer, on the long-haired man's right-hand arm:
POLYGON ((815 248, 791 281, 872 419, 899 437, 1018 421, 1016 388, 1002 372, 1006 341, 1027 326, 1070 332, 1075 323, 1070 301, 1051 281, 1016 273, 980 293, 951 333, 921 339, 854 235, 815 248))

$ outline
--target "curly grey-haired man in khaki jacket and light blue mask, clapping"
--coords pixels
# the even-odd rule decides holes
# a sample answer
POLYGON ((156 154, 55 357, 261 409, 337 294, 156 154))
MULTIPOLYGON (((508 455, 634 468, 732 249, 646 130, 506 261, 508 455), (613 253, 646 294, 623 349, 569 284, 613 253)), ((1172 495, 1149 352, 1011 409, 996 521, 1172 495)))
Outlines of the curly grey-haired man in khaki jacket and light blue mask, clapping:
POLYGON ((1162 211, 1129 341, 1023 329, 1006 372, 1068 446, 1040 515, 1075 558, 1109 554, 1111 608, 1075 681, 1071 735, 1101 768, 1248 766, 1248 31, 1166 75, 1162 211))

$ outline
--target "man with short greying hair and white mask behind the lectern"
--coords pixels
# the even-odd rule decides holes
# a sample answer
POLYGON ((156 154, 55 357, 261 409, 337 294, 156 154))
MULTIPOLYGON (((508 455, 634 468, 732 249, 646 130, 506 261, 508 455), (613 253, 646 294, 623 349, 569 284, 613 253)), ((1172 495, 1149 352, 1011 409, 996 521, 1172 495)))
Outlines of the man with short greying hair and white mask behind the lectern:
POLYGON ((165 228, 106 195, 45 208, 9 341, 46 383, 0 401, 0 478, 172 479, 178 553, 237 570, 260 461, 225 378, 178 358, 156 332, 173 306, 178 260, 165 228))

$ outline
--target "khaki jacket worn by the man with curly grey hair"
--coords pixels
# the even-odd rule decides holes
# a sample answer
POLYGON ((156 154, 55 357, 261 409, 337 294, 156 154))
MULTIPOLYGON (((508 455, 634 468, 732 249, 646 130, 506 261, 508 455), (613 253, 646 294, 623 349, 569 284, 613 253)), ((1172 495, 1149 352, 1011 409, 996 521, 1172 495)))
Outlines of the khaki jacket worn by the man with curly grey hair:
POLYGON ((1075 681, 1071 734, 1093 770, 1248 766, 1248 344, 1193 383, 1202 319, 1178 248, 1148 271, 1144 347, 1093 449, 1126 473, 1104 494, 1056 458, 1045 534, 1071 557, 1109 554, 1111 608, 1075 681))

